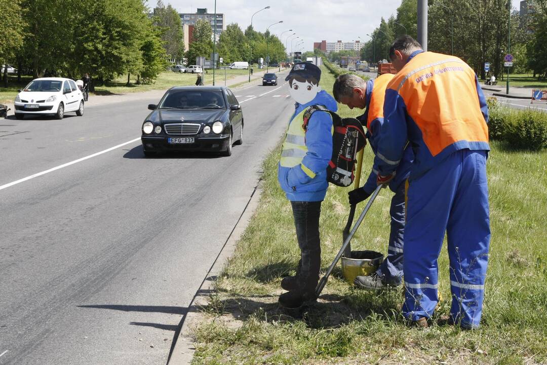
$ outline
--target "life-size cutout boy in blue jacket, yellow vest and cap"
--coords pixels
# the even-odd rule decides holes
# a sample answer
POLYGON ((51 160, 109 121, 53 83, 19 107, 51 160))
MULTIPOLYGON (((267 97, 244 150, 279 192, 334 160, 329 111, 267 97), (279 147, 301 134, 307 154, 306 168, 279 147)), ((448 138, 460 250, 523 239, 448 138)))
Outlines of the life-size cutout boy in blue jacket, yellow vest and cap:
POLYGON ((321 69, 312 63, 296 63, 285 79, 290 95, 296 101, 293 117, 278 165, 278 181, 293 208, 300 261, 296 275, 285 277, 279 303, 286 308, 299 308, 316 300, 315 288, 321 267, 319 215, 327 194, 327 166, 333 152, 333 119, 328 112, 311 114, 304 129, 304 116, 309 107, 337 109, 336 101, 324 90, 319 91, 321 69))

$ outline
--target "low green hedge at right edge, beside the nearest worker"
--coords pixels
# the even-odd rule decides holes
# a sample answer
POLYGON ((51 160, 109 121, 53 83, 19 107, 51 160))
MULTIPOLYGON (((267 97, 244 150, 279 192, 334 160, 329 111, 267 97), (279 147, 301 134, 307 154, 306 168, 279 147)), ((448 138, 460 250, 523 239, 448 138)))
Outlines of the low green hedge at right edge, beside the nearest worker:
POLYGON ((488 98, 488 134, 515 149, 547 148, 547 113, 538 109, 511 109, 488 98))

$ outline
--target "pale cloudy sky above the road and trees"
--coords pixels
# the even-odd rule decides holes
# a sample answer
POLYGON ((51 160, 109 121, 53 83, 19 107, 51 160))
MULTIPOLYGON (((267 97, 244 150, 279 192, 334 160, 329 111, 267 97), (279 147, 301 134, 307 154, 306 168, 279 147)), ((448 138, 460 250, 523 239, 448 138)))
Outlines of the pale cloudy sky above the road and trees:
MULTIPOLYGON (((519 9, 520 0, 511 1, 513 7, 519 9)), ((207 8, 209 13, 214 10, 214 0, 164 0, 164 3, 170 3, 181 13, 195 13, 197 8, 207 8)), ((400 3, 400 0, 217 0, 217 12, 225 14, 226 24, 237 23, 245 30, 255 11, 270 5, 270 9, 254 16, 255 30, 264 32, 267 26, 282 20, 282 24, 271 26, 270 31, 279 36, 281 32, 292 29, 292 32, 283 34, 283 42, 287 36, 296 33, 293 38, 299 38, 293 44, 301 39, 304 40, 304 50, 311 50, 313 42, 323 39, 329 42, 351 42, 358 37, 368 40, 366 33, 374 30, 382 16, 387 19, 395 14, 400 3)), ((149 0, 148 4, 153 7, 156 2, 149 0)))

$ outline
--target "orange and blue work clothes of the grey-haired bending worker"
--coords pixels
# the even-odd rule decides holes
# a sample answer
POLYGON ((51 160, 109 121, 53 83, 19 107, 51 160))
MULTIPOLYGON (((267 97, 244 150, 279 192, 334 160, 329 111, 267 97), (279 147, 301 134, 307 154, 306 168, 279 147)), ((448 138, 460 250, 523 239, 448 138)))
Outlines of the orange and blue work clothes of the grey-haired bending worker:
MULTIPOLYGON (((386 86, 394 77, 391 73, 383 74, 375 80, 366 83, 366 111, 358 117, 361 124, 366 125, 366 138, 374 154, 378 149, 377 135, 383 123, 383 104, 386 94, 386 86)), ((405 184, 409 177, 410 166, 414 160, 412 149, 406 147, 401 163, 397 167, 397 173, 389 183, 389 189, 395 195, 391 199, 389 216, 391 216, 391 231, 387 246, 386 259, 376 270, 376 274, 382 278, 382 282, 388 285, 397 286, 403 278, 403 234, 405 228, 405 184)), ((376 176, 378 170, 373 165, 369 178, 361 188, 371 194, 376 189, 376 176)))

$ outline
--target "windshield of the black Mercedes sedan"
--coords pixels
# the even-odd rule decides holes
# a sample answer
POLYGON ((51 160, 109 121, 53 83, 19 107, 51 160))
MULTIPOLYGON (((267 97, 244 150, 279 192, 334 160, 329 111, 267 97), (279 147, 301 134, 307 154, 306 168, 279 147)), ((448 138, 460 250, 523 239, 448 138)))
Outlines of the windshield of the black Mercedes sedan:
POLYGON ((160 103, 164 109, 224 109, 224 96, 216 90, 172 90, 160 103))

